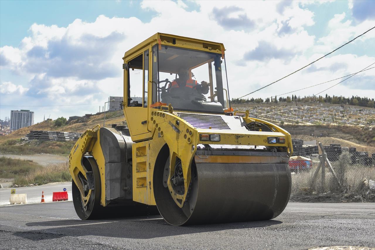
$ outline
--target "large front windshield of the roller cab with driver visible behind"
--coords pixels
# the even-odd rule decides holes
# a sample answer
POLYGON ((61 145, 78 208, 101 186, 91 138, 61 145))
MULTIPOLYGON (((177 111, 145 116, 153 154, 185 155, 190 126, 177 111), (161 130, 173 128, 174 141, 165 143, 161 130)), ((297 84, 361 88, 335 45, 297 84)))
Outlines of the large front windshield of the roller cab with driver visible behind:
POLYGON ((221 54, 165 45, 152 50, 152 103, 171 103, 181 111, 223 112, 227 82, 221 54))

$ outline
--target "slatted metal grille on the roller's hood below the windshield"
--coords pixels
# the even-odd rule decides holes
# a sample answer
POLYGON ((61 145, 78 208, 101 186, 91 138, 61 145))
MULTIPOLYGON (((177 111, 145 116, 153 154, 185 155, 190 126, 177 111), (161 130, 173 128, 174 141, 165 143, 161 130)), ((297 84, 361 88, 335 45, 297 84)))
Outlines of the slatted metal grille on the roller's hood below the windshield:
POLYGON ((191 114, 191 113, 177 113, 178 116, 187 121, 190 125, 197 129, 227 129, 231 128, 226 124, 220 115, 208 114, 191 114))

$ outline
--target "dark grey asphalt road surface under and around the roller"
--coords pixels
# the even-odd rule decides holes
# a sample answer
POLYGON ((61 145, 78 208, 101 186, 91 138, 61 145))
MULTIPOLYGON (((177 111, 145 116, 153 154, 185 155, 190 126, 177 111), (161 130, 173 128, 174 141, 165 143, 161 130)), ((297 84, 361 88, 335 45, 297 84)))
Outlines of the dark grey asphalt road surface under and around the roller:
POLYGON ((72 202, 0 207, 0 249, 375 247, 374 232, 374 203, 290 202, 273 220, 183 227, 160 216, 82 221, 72 202))

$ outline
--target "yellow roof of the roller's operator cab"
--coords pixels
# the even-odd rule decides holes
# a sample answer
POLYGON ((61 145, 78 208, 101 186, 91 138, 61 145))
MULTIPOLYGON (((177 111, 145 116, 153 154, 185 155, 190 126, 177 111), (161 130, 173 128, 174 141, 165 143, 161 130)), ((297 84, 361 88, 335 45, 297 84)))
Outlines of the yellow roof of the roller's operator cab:
POLYGON ((199 49, 203 51, 210 51, 214 53, 219 53, 224 56, 224 45, 222 43, 217 42, 210 42, 201 39, 195 39, 190 37, 184 36, 177 36, 172 34, 165 34, 165 33, 156 33, 143 42, 139 43, 138 45, 134 46, 133 48, 129 49, 125 52, 124 57, 128 57, 133 53, 139 51, 140 49, 144 48, 145 46, 151 44, 159 43, 159 45, 175 45, 182 48, 190 48, 190 49, 199 49))

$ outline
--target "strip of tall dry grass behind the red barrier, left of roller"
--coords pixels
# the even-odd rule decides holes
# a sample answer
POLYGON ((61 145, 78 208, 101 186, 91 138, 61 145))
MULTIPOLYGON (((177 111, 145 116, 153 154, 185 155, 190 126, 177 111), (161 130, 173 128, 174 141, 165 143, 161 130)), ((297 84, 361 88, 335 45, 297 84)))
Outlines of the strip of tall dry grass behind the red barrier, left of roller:
POLYGON ((13 184, 27 186, 28 184, 46 184, 51 182, 71 181, 68 163, 52 165, 44 168, 34 169, 27 175, 18 176, 13 184))

